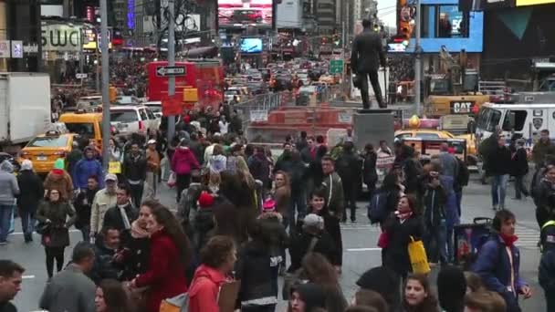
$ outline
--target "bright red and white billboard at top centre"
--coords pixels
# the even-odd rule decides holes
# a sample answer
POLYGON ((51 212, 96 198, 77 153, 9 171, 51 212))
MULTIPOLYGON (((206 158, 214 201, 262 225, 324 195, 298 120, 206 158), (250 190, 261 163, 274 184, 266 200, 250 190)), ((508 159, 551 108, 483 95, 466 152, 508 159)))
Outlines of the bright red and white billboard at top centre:
POLYGON ((272 28, 273 26, 272 0, 218 0, 217 10, 220 28, 246 26, 272 28))

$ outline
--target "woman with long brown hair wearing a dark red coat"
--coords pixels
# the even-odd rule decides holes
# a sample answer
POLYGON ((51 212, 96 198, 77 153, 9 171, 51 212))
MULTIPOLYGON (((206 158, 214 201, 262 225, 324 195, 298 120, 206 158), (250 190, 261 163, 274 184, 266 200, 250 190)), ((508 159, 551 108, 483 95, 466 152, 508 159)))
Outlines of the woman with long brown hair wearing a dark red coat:
POLYGON ((191 248, 177 219, 163 206, 152 210, 147 230, 151 234, 148 269, 133 279, 131 286, 149 286, 147 311, 158 312, 163 299, 187 291, 185 268, 191 259, 191 248))

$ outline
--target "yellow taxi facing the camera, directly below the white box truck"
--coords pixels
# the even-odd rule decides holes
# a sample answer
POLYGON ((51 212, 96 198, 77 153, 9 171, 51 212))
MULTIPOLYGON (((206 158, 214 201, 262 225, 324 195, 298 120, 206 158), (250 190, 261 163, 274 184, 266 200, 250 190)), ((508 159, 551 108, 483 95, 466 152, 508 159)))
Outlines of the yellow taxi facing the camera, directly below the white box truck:
POLYGON ((47 173, 54 168, 58 158, 66 158, 73 149, 76 134, 47 131, 29 141, 19 155, 19 163, 24 160, 33 161, 33 169, 37 173, 47 173))

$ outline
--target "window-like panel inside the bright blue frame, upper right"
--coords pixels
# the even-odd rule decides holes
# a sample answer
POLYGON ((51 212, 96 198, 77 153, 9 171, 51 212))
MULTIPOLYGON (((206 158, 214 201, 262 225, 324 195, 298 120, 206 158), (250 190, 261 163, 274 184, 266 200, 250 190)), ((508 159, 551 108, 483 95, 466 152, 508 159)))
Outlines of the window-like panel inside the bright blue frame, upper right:
POLYGON ((422 36, 428 38, 468 37, 469 14, 458 5, 423 5, 422 36))

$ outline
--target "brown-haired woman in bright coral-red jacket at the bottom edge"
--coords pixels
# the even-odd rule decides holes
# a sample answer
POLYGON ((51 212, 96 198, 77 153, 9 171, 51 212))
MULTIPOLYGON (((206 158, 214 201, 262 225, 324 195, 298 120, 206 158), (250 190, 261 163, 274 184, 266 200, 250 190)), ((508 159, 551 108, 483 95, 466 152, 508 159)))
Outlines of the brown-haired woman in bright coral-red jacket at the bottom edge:
POLYGON ((220 286, 231 281, 236 264, 236 244, 228 236, 216 235, 201 250, 201 263, 189 288, 189 312, 219 312, 220 286))

